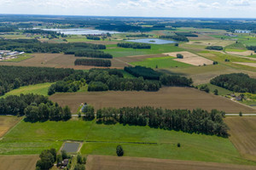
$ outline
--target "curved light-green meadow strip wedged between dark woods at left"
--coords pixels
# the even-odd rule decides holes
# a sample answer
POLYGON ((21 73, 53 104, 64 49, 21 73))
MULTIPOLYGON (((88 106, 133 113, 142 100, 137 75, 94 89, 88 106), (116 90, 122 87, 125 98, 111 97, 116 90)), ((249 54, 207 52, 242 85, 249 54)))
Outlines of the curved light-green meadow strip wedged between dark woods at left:
POLYGON ((14 90, 11 90, 7 94, 4 94, 2 97, 7 97, 9 95, 20 95, 20 94, 40 94, 40 95, 48 95, 48 89, 53 82, 45 82, 36 85, 30 85, 25 87, 20 87, 14 90))

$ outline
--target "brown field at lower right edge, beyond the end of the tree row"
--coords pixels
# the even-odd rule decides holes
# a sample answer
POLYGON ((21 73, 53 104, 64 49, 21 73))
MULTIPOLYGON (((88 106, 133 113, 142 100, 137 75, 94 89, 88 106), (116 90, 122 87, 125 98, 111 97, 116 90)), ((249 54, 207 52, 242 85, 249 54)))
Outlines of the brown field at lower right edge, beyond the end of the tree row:
POLYGON ((256 116, 226 117, 230 140, 241 156, 256 161, 256 116))

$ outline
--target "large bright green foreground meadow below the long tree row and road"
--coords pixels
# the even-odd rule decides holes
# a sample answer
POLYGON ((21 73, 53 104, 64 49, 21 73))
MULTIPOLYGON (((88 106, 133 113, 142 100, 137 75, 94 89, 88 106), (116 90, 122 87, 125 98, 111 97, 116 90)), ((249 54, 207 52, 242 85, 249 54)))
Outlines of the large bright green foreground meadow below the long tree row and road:
POLYGON ((243 159, 229 139, 150 127, 103 125, 77 119, 67 122, 22 121, 1 141, 0 154, 39 154, 51 147, 59 150, 64 141, 71 139, 84 141, 80 150, 83 155, 115 156, 117 144, 122 144, 125 156, 255 164, 243 159), (178 142, 181 148, 177 148, 178 142))

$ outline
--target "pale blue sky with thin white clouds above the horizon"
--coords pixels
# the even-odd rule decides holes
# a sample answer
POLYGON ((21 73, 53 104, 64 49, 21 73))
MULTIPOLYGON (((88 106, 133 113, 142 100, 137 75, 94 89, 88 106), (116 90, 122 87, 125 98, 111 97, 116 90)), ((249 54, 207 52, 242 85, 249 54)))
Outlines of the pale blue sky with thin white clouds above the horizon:
POLYGON ((256 0, 0 0, 0 14, 256 18, 256 0))

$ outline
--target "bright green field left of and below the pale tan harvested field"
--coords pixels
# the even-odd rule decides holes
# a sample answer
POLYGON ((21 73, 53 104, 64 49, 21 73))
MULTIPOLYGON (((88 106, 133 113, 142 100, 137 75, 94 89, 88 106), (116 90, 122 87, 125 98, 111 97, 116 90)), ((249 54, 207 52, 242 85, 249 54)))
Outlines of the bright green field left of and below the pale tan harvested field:
POLYGON ((173 67, 189 67, 192 65, 182 63, 176 60, 174 57, 158 57, 158 58, 149 58, 149 59, 144 59, 143 61, 138 61, 138 62, 131 62, 131 65, 142 65, 150 68, 173 68, 173 67))

